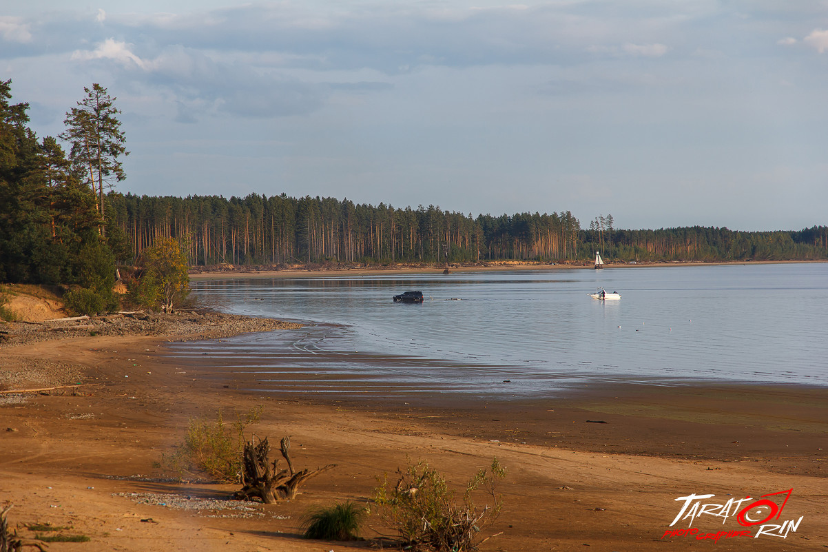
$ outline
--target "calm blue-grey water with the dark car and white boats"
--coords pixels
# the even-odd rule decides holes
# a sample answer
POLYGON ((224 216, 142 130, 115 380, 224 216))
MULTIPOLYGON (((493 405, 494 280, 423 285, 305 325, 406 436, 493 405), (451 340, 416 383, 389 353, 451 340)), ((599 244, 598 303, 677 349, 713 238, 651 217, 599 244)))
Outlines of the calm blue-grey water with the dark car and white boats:
POLYGON ((310 324, 171 346, 254 372, 257 390, 525 397, 606 380, 828 385, 828 264, 380 273, 194 290, 230 312, 310 324), (590 298, 597 286, 622 299, 590 298), (408 289, 426 302, 392 303, 408 289))

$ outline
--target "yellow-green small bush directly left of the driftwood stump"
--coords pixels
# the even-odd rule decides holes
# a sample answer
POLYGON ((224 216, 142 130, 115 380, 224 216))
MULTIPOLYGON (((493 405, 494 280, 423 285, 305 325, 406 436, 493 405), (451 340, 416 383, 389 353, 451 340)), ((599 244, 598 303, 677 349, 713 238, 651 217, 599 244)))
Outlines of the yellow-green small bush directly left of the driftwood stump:
POLYGON ((242 416, 236 413, 233 424, 225 424, 221 411, 214 421, 191 419, 181 448, 162 464, 177 472, 198 470, 219 481, 238 482, 242 472, 244 429, 258 422, 262 407, 242 416))

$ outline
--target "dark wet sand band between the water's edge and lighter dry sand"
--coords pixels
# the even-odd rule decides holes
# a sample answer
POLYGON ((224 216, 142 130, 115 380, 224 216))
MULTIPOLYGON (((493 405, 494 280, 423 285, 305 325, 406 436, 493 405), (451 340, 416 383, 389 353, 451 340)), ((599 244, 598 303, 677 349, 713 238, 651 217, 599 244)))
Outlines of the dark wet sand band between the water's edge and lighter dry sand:
MULTIPOLYGON (((209 355, 210 349, 205 347, 208 352, 204 354, 209 355)), ((360 355, 348 354, 356 359, 360 355)), ((161 348, 156 360, 174 361, 181 370, 195 367, 190 359, 166 357, 161 348)), ((198 366, 206 380, 224 382, 230 375, 221 366, 198 366)), ((262 390, 257 385, 259 377, 255 371, 236 367, 232 372, 233 392, 319 408, 347 407, 363 414, 413 415, 438 433, 465 438, 484 438, 488 434, 502 443, 554 445, 592 453, 612 447, 618 453, 685 461, 738 462, 753 458, 761 459, 768 470, 828 477, 822 472, 826 453, 812 446, 819 438, 828 444, 828 386, 728 380, 676 380, 672 385, 651 385, 619 378, 587 380, 546 396, 400 391, 393 382, 370 392, 350 390, 349 383, 339 383, 339 394, 327 394, 317 393, 313 382, 296 385, 290 391, 262 390), (462 413, 465 424, 452 421, 458 413, 462 413), (590 420, 603 422, 597 425, 590 420), (508 429, 510 424, 514 427, 508 429), (550 440, 546 429, 540 429, 549 426, 566 431, 556 432, 550 440), (596 432, 596 428, 603 431, 596 432), (781 435, 786 435, 784 442, 780 441, 781 435), (613 439, 618 442, 610 443, 613 439), (800 458, 795 466, 774 459, 793 451, 800 458)), ((292 382, 294 376, 290 371, 267 377, 292 382)))

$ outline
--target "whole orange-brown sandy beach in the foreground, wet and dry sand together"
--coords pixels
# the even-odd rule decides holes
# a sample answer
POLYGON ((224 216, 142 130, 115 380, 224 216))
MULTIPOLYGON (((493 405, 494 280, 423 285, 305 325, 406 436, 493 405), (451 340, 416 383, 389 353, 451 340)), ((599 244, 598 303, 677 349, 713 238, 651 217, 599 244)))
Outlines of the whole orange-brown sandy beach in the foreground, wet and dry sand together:
MULTIPOLYGON (((220 335, 190 327, 3 346, 0 390, 79 385, 0 394, 0 505, 14 504, 8 516, 20 534, 39 522, 90 538, 50 550, 368 550, 369 541, 301 539, 301 516, 335 501, 369 503, 376 477, 408 458, 460 485, 497 456, 508 468, 505 507, 489 529, 500 534, 481 550, 828 546, 828 390, 605 385, 508 403, 286 399, 244 392, 242 375, 214 377, 209 361, 165 356, 171 339, 220 335), (190 419, 256 405, 263 414, 253 430, 291 435, 297 466, 338 467, 272 506, 227 501, 238 486, 179 482, 156 467, 190 419), (802 521, 787 538, 753 538, 757 526, 710 515, 692 520, 695 535, 665 536, 691 522, 670 526, 679 496, 724 503, 788 489, 776 523, 802 521), (735 535, 741 530, 750 535, 735 535), (698 538, 720 531, 734 535, 698 538)), ((389 532, 372 515, 363 536, 389 532)))

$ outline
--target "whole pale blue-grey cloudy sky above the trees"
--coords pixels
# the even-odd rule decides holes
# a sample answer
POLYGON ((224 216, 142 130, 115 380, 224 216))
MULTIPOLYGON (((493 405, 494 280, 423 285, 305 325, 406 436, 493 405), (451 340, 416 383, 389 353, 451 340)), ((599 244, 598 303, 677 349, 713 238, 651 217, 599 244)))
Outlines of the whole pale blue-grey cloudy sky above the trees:
POLYGON ((6 1, 0 79, 107 88, 124 193, 828 224, 828 0, 6 1))

